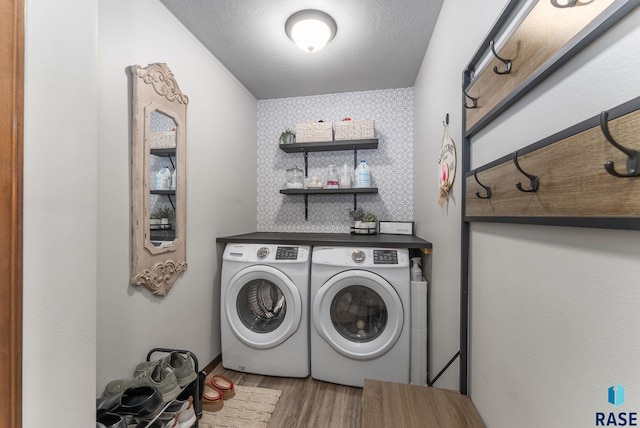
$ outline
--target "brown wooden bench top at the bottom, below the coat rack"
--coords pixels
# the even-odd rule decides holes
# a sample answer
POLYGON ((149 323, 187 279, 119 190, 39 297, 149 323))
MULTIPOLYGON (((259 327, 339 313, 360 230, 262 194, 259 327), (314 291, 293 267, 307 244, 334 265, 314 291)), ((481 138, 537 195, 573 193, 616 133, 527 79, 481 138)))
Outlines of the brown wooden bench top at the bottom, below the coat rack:
POLYGON ((427 386, 365 379, 362 426, 367 428, 484 428, 466 395, 427 386))

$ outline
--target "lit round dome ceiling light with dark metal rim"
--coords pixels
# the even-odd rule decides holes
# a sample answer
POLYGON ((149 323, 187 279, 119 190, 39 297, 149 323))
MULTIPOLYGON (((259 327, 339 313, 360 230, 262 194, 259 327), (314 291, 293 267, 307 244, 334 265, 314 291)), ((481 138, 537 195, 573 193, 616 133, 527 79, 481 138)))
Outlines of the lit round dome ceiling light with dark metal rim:
POLYGON ((284 24, 287 36, 303 51, 317 52, 333 39, 338 31, 336 21, 319 10, 301 10, 284 24))

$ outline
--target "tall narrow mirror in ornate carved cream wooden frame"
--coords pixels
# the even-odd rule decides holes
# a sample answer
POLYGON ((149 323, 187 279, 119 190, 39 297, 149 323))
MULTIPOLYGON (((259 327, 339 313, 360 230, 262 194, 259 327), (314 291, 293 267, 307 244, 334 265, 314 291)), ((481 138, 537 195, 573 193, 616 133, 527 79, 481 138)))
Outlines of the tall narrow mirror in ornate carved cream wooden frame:
POLYGON ((131 67, 131 284, 166 295, 186 261, 187 104, 166 64, 131 67))

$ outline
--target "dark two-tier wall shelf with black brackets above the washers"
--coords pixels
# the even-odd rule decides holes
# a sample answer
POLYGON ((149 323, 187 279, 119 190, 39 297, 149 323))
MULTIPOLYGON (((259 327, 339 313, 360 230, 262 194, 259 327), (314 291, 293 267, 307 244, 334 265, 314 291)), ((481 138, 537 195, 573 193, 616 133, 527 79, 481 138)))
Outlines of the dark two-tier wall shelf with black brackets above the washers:
MULTIPOLYGON (((318 143, 294 143, 280 144, 280 150, 286 153, 304 153, 304 176, 308 176, 308 153, 309 152, 332 152, 353 150, 353 167, 358 166, 358 149, 377 149, 378 139, 367 140, 345 140, 345 141, 322 141, 318 143)), ((351 187, 348 189, 281 189, 283 195, 304 195, 304 219, 308 219, 309 195, 353 195, 353 210, 358 207, 358 194, 377 194, 377 187, 351 187)))

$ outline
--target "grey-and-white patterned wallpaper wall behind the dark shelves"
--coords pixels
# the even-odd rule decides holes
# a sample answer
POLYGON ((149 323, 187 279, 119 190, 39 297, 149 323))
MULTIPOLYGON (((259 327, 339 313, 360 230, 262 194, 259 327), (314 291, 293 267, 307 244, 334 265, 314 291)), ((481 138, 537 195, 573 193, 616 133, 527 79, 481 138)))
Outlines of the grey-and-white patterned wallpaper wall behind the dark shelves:
MULTIPOLYGON (((280 194, 285 170, 303 169, 304 156, 278 148, 280 133, 296 123, 345 117, 375 120, 378 138, 377 149, 358 151, 378 187, 377 195, 358 195, 358 207, 380 220, 413 221, 413 94, 401 88, 258 101, 258 231, 349 233, 353 195, 309 195, 305 221, 304 197, 280 194)), ((309 153, 309 177, 326 184, 329 165, 339 171, 345 163, 353 168, 353 151, 309 153)))

